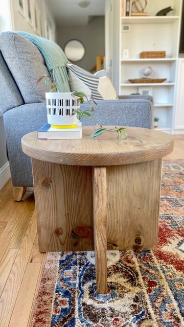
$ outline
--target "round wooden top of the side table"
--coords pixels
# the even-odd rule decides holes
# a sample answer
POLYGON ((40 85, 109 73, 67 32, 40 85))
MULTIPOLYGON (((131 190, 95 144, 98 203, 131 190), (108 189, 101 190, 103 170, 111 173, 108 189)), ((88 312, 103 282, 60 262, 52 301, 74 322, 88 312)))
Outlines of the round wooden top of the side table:
POLYGON ((21 139, 22 150, 32 158, 76 166, 135 164, 162 158, 173 150, 173 137, 147 128, 126 127, 128 138, 119 143, 117 132, 89 138, 94 126, 82 127, 82 139, 38 139, 32 132, 21 139))

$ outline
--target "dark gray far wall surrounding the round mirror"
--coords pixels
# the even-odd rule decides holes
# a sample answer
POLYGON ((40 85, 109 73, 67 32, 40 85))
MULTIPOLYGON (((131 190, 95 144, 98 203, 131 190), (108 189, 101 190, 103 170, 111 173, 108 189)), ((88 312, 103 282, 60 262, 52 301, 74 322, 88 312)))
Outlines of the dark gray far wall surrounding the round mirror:
POLYGON ((64 45, 71 39, 84 44, 85 55, 76 65, 89 71, 96 64, 96 56, 105 53, 105 19, 94 16, 87 26, 61 26, 57 28, 57 43, 64 50, 64 45))

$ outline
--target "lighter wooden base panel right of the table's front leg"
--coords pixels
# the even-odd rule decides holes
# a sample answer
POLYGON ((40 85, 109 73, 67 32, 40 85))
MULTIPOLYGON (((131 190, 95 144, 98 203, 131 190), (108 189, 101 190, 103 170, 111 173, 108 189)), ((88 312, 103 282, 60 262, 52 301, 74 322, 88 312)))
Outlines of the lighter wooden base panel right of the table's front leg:
POLYGON ((107 249, 156 249, 162 159, 107 167, 107 249))

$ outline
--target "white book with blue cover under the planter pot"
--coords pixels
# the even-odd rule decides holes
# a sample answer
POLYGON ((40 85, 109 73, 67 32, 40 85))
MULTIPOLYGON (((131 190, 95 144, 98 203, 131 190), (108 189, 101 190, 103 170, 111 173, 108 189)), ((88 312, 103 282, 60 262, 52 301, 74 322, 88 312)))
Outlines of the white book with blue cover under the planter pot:
POLYGON ((50 124, 44 124, 37 131, 37 137, 41 139, 77 139, 82 138, 82 123, 76 128, 52 128, 50 124))

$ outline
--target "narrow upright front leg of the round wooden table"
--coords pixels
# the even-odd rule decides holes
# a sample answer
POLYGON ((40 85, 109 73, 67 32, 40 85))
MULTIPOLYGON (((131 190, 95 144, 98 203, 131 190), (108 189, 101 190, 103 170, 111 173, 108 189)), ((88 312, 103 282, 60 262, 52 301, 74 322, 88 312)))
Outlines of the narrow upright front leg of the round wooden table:
POLYGON ((94 249, 97 292, 107 292, 106 167, 93 169, 94 249))

